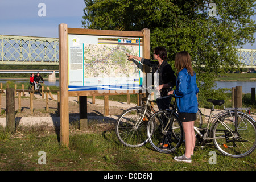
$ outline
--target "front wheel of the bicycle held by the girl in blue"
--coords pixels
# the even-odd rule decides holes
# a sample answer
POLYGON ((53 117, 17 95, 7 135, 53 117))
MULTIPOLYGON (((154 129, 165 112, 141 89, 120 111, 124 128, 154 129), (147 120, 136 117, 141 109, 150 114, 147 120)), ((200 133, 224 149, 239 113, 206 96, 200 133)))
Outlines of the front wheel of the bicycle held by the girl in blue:
POLYGON ((148 122, 148 142, 158 152, 174 152, 183 141, 183 127, 176 115, 171 116, 171 122, 166 127, 170 115, 171 111, 160 110, 148 122))

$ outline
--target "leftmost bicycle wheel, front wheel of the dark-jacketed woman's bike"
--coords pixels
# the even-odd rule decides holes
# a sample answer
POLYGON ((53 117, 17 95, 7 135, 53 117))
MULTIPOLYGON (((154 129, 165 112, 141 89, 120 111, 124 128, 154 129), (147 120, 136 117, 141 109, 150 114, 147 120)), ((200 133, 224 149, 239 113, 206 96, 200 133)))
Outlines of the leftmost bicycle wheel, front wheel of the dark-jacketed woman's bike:
POLYGON ((146 111, 144 118, 144 107, 132 107, 123 111, 118 117, 115 126, 115 134, 119 141, 128 147, 141 147, 148 142, 147 123, 150 113, 146 111), (142 121, 140 119, 142 118, 142 121))

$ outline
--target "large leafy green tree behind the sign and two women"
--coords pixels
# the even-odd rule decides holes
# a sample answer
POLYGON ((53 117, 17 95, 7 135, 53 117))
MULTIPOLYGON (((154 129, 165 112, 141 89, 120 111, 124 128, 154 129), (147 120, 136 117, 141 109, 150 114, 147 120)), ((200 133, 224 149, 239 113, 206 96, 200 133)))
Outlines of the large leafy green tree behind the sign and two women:
POLYGON ((151 47, 164 46, 174 68, 175 54, 191 54, 200 93, 205 96, 222 72, 241 67, 235 47, 253 44, 255 1, 84 0, 84 28, 141 31, 151 47), (210 6, 209 6, 210 5, 210 6), (216 7, 216 11, 214 9, 216 7))

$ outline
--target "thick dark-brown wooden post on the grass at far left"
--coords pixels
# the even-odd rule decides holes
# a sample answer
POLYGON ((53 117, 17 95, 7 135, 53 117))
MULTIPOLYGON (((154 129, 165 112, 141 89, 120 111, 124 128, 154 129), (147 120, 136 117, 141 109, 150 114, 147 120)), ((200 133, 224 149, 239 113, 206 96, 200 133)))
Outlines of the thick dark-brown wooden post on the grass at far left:
POLYGON ((6 127, 9 131, 15 131, 15 100, 14 88, 6 88, 6 127))

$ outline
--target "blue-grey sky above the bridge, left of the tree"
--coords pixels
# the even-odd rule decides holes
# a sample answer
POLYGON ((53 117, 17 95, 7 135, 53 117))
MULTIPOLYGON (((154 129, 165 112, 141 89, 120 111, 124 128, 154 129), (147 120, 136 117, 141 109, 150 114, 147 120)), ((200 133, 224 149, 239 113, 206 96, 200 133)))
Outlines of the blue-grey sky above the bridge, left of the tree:
MULTIPOLYGON (((84 0, 0 0, 0 35, 58 38, 61 23, 83 28, 84 7, 84 0)), ((256 49, 256 43, 243 48, 256 49)))

